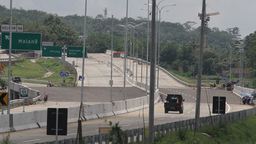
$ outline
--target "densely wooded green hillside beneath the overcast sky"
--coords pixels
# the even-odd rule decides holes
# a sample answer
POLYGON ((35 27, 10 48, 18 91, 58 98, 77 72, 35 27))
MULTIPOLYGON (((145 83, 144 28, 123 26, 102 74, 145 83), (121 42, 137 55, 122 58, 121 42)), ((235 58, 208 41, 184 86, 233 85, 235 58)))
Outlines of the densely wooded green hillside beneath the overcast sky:
MULTIPOLYGON (((0 24, 9 24, 9 9, 0 5, 0 24)), ((140 19, 143 19, 139 17, 140 19)), ((124 28, 119 26, 125 23, 125 18, 113 18, 113 49, 124 51, 124 28)), ((144 20, 128 18, 129 22, 140 24, 144 20)), ((104 53, 111 48, 111 18, 104 19, 99 14, 95 18, 87 16, 86 46, 88 53, 104 53)), ((38 10, 13 9, 13 24, 23 24, 24 32, 42 33, 42 41, 53 42, 54 45, 82 46, 83 41, 79 35, 83 35, 84 16, 68 15, 58 16, 38 10)), ((183 72, 197 71, 200 27, 195 28, 196 22, 172 23, 161 21, 160 65, 168 70, 183 72)), ((149 35, 151 31, 149 31, 149 35)), ((248 52, 254 52, 255 44, 250 40, 255 39, 255 33, 245 38, 245 47, 248 52)), ((133 30, 128 34, 128 47, 133 45, 133 30)), ((219 28, 208 28, 206 48, 204 49, 203 74, 216 75, 222 70, 229 70, 230 47, 234 43, 231 38, 240 39, 239 28, 227 28, 225 31, 219 28)), ((157 42, 158 43, 158 42, 157 42)), ((139 57, 146 59, 147 24, 135 28, 135 49, 138 48, 139 57), (138 31, 138 41, 137 41, 138 31), (137 47, 138 43, 138 47, 137 47)), ((150 47, 149 42, 149 47, 150 47)), ((150 51, 150 50, 149 50, 150 51)), ((150 53, 150 52, 149 52, 150 53)), ((129 52, 128 52, 129 54, 129 52)), ((239 68, 239 52, 232 51, 232 68, 239 68)), ((246 55, 249 59, 249 55, 246 55)), ((150 58, 149 58, 150 60, 150 58)), ((255 77, 255 60, 247 60, 247 66, 255 77)), ((256 82, 254 82, 256 85, 256 82)))

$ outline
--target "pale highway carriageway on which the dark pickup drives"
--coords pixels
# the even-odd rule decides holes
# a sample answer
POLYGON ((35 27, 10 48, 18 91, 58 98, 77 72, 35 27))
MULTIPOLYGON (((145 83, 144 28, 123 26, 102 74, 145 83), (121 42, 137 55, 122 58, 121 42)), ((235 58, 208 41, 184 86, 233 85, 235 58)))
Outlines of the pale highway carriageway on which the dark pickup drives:
MULTIPOLYGON (((216 95, 225 95, 227 97, 227 103, 230 107, 228 112, 252 108, 252 106, 249 106, 249 105, 240 105, 239 104, 240 99, 236 95, 234 95, 233 93, 230 93, 228 91, 222 91, 222 90, 209 90, 209 91, 210 91, 209 92, 210 93, 210 101, 212 99, 212 96, 214 96, 214 93, 216 93, 216 95)), ((170 122, 179 121, 179 120, 186 120, 186 119, 195 117, 196 90, 189 89, 189 88, 188 89, 163 88, 160 90, 160 92, 163 95, 165 95, 167 93, 176 93, 176 94, 179 92, 181 94, 184 93, 184 94, 182 94, 185 99, 184 113, 179 114, 179 112, 169 112, 168 114, 165 114, 163 103, 157 103, 155 105, 155 112, 154 112, 155 113, 155 117, 154 117, 155 125, 170 123, 170 122), (172 91, 174 91, 174 92, 172 92, 172 91)), ((207 101, 205 101, 203 94, 202 94, 201 101, 202 101, 202 103, 201 103, 201 108, 200 108, 200 116, 208 116, 209 109, 208 109, 207 101)), ((226 106, 226 108, 228 110, 228 106, 226 106)), ((145 119, 145 126, 148 126, 148 108, 144 109, 144 119, 145 119)), ((138 121, 139 121, 139 127, 143 127, 142 110, 123 114, 123 115, 117 115, 117 116, 101 118, 101 119, 97 119, 97 120, 85 121, 82 123, 83 136, 98 134, 99 127, 108 126, 109 121, 119 122, 119 125, 122 127, 123 130, 137 128, 138 121), (140 117, 138 117, 139 113, 140 113, 140 117), (105 120, 107 120, 107 123, 105 122, 105 120)), ((59 136, 59 139, 74 138, 74 137, 76 137, 76 131, 77 131, 76 123, 68 124, 68 135, 67 136, 59 136)), ((7 133, 4 133, 4 135, 7 135, 7 133)), ((24 131, 11 132, 10 136, 11 136, 10 139, 12 140, 13 143, 24 143, 24 144, 55 140, 55 136, 47 136, 46 135, 45 127, 39 128, 39 129, 30 129, 30 130, 24 130, 24 131)))

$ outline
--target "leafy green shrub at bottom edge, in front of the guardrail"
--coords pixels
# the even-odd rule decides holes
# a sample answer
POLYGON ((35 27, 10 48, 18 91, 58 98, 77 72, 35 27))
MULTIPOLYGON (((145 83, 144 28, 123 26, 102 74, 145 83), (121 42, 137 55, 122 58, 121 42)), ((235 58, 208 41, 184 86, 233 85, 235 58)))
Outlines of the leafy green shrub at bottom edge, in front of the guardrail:
POLYGON ((112 129, 109 131, 109 138, 108 141, 112 141, 113 144, 124 144, 125 140, 123 138, 124 132, 121 130, 120 126, 118 126, 119 122, 115 125, 112 125, 112 122, 109 121, 109 126, 112 129))

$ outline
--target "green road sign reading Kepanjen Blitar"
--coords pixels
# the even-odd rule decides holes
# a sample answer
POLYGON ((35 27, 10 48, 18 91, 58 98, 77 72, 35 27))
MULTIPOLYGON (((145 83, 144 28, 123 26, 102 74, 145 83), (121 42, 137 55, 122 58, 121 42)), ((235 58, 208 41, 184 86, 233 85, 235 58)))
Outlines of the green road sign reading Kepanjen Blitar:
MULTIPOLYGON (((85 47, 84 57, 86 58, 87 47, 85 47)), ((83 47, 81 46, 68 46, 67 58, 83 58, 83 47)))

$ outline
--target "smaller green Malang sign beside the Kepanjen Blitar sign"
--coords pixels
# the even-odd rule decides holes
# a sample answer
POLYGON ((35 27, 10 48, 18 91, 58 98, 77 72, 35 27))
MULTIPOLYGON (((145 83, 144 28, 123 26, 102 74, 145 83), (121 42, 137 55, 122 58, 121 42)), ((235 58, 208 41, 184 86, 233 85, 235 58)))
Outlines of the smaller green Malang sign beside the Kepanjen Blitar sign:
POLYGON ((43 57, 61 57, 62 46, 42 46, 43 57))

